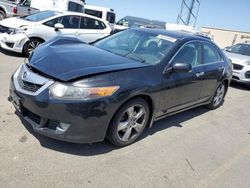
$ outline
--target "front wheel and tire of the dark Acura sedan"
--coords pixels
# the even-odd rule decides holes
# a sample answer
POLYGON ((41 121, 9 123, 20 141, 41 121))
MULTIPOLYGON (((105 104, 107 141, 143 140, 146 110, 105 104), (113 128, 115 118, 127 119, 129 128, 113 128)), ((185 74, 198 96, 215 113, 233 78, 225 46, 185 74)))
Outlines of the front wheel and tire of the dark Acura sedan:
POLYGON ((149 106, 144 99, 135 98, 128 101, 113 116, 107 139, 118 147, 134 143, 143 133, 149 114, 149 106))

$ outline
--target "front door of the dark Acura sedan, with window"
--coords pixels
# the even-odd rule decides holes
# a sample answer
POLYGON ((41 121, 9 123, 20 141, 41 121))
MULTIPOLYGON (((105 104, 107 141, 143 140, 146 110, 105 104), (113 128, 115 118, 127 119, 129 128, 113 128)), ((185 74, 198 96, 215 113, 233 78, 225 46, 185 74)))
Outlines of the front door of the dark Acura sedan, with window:
POLYGON ((161 98, 162 114, 181 110, 198 103, 201 92, 203 72, 201 64, 200 42, 189 42, 176 53, 168 68, 176 63, 189 63, 192 71, 187 73, 170 73, 163 77, 163 92, 161 98))

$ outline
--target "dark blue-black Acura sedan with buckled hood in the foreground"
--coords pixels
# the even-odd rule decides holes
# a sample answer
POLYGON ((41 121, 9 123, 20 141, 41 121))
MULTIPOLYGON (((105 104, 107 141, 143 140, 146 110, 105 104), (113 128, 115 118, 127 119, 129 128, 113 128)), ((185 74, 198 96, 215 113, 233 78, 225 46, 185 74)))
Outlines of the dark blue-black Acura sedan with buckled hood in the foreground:
POLYGON ((156 120, 218 108, 231 74, 211 40, 129 29, 93 46, 71 37, 42 44, 12 76, 9 99, 40 134, 126 146, 156 120))

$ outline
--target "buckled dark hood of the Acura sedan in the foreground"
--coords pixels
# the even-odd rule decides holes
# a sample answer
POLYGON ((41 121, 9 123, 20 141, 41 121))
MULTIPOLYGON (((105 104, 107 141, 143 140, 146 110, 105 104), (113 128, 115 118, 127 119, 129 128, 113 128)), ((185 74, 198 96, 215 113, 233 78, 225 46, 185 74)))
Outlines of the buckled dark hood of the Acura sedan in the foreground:
POLYGON ((104 51, 72 37, 57 37, 37 48, 29 65, 60 81, 150 66, 104 51))

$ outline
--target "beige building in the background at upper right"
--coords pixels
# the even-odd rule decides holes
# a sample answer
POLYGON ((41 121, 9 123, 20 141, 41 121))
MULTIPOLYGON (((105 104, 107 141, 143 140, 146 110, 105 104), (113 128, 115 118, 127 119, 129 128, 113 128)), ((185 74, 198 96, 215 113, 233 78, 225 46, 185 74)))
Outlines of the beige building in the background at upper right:
POLYGON ((201 32, 210 35, 214 42, 221 48, 225 48, 240 42, 250 41, 250 32, 212 27, 202 27, 201 32))

